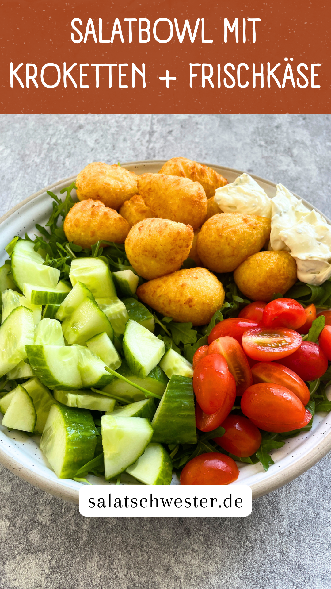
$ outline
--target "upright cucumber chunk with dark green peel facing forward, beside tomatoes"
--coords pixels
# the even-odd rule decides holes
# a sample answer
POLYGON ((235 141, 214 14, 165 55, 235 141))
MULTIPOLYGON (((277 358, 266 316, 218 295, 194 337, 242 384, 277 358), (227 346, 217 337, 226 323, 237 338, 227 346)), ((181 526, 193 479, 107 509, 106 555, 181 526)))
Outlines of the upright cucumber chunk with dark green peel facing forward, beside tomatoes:
POLYGON ((196 416, 192 379, 171 376, 155 412, 153 442, 196 444, 196 416))

